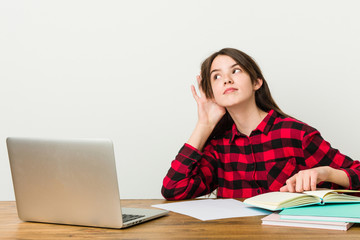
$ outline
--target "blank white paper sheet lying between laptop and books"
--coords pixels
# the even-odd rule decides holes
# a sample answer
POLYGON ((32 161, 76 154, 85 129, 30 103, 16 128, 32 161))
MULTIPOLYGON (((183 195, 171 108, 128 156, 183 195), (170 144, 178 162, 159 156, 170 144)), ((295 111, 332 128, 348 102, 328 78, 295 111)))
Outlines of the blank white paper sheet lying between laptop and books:
POLYGON ((188 215, 203 221, 222 218, 269 215, 271 212, 250 207, 235 199, 204 199, 156 204, 152 207, 188 215))

